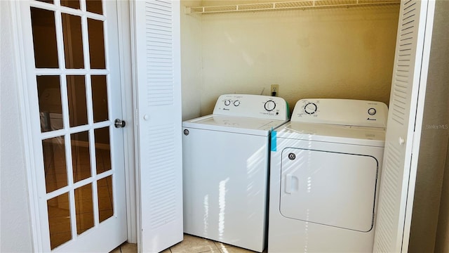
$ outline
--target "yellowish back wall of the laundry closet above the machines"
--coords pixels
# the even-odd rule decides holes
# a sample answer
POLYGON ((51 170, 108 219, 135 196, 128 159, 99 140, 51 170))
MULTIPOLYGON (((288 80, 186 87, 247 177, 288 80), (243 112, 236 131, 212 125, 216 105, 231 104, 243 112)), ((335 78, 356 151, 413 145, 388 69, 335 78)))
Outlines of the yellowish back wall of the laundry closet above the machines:
MULTIPOLYGON (((228 2, 237 1, 202 4, 228 2)), ((398 5, 192 17, 201 18, 201 115, 222 93, 269 95, 271 84, 290 109, 312 97, 389 102, 398 5)))

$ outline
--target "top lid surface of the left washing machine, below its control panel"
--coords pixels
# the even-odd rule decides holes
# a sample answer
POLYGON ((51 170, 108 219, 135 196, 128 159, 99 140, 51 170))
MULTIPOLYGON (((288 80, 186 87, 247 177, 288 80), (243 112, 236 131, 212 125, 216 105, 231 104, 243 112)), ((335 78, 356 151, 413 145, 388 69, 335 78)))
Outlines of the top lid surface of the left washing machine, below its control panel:
POLYGON ((286 120, 208 115, 182 122, 182 126, 196 129, 267 136, 272 129, 281 126, 285 122, 286 120))

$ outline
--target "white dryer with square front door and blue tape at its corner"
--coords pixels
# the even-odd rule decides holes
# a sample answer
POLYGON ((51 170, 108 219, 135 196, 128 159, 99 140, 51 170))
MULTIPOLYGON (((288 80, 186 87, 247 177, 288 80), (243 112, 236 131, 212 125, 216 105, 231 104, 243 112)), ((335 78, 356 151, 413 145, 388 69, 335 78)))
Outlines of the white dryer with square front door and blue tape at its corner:
POLYGON ((272 132, 268 252, 372 252, 387 105, 303 99, 272 132))

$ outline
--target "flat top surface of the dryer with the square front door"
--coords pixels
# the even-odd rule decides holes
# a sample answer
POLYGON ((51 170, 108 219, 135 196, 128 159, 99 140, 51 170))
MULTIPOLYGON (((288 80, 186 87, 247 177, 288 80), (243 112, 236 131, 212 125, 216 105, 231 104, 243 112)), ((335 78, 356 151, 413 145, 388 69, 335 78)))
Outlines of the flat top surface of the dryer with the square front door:
POLYGON ((382 127, 288 122, 276 129, 276 137, 384 147, 385 129, 382 127))

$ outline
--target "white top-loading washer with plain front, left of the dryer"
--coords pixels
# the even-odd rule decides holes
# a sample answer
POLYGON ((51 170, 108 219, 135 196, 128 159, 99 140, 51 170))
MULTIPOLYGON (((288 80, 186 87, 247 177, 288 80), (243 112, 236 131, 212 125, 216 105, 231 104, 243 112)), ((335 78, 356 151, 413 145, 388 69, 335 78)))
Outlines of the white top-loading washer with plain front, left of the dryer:
POLYGON ((182 123, 185 233, 262 252, 269 134, 287 120, 283 98, 229 94, 182 123))

